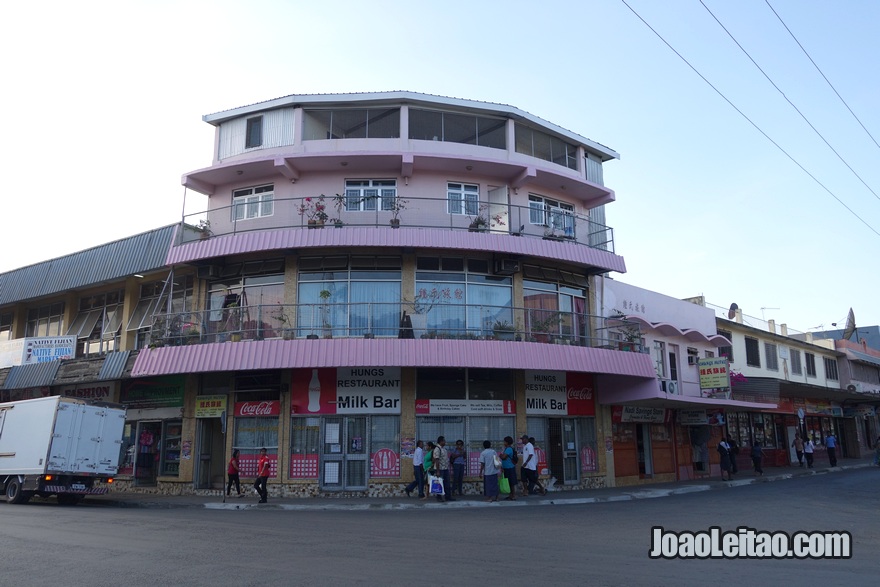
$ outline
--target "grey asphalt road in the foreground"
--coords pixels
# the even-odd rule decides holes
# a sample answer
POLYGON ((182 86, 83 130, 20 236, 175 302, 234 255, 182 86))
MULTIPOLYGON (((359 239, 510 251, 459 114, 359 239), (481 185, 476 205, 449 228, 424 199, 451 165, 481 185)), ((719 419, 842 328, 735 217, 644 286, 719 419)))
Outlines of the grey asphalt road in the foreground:
POLYGON ((880 468, 641 501, 382 511, 0 504, 0 585, 872 584, 880 468), (844 560, 654 560, 651 527, 847 530, 844 560))

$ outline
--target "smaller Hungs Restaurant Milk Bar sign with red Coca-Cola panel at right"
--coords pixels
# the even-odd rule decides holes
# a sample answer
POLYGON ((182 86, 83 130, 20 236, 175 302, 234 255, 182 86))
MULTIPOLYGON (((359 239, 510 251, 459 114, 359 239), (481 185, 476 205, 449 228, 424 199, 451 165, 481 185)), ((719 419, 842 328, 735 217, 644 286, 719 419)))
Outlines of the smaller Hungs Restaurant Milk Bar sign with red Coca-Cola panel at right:
POLYGON ((590 373, 526 370, 526 414, 595 416, 590 373))

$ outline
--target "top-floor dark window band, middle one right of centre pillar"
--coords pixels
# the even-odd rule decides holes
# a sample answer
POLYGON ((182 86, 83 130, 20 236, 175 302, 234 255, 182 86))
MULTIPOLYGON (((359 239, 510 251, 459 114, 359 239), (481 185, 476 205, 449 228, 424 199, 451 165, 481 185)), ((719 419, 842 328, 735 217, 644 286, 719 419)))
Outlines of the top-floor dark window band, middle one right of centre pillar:
POLYGON ((409 138, 506 149, 507 121, 473 114, 409 110, 409 138))

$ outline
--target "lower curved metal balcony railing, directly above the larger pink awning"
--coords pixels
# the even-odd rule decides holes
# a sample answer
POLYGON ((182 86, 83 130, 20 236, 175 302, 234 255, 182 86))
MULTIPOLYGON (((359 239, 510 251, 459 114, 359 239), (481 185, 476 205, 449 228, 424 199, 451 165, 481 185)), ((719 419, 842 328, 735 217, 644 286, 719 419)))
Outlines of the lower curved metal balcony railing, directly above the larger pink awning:
POLYGON ((157 314, 149 346, 240 340, 412 338, 510 340, 641 352, 638 325, 553 309, 412 302, 242 306, 157 314))

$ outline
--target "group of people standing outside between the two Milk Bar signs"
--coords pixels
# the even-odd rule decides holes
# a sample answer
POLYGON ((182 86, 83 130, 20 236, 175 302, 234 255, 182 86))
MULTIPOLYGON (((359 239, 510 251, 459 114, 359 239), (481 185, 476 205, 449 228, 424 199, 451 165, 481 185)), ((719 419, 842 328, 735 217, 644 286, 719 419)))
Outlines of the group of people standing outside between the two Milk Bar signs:
MULTIPOLYGON (((538 478, 538 458, 535 452, 535 439, 523 434, 522 494, 545 494, 547 490, 538 478)), ((519 455, 513 446, 510 436, 504 437, 504 448, 495 452, 489 440, 483 441, 483 452, 480 453, 480 476, 483 478, 483 495, 486 501, 516 500, 517 474, 516 465, 519 455), (506 497, 501 498, 502 494, 506 497)), ((464 441, 457 440, 450 451, 446 448, 446 438, 439 436, 437 443, 428 441, 416 442, 413 451, 413 481, 406 486, 405 492, 410 497, 416 489, 420 499, 428 499, 434 495, 437 501, 455 501, 454 495, 464 495, 463 480, 467 466, 467 452, 464 441), (452 478, 450 479, 450 466, 452 478)))

